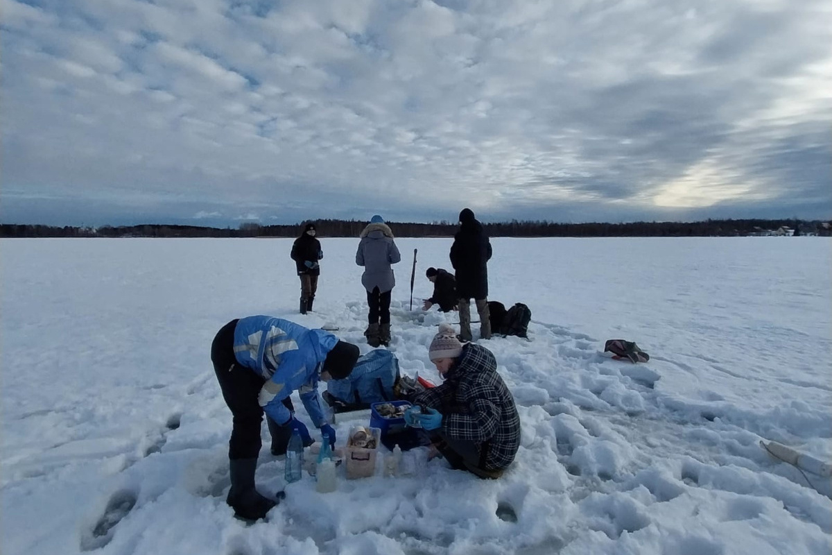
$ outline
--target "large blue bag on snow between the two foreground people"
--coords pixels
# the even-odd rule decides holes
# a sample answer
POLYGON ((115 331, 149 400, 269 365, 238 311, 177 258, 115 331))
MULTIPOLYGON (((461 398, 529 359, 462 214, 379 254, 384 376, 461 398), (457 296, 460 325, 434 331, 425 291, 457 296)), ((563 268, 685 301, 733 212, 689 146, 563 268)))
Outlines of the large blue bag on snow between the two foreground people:
POLYGON ((396 399, 399 359, 387 349, 374 349, 359 357, 353 371, 344 379, 330 379, 324 401, 336 413, 369 409, 371 403, 396 399))

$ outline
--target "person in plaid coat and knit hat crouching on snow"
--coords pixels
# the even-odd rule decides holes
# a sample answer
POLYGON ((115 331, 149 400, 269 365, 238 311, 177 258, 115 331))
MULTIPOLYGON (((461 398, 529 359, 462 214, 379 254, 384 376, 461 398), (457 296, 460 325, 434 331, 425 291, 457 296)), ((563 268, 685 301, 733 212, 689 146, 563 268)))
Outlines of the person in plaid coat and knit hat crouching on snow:
POLYGON ((518 452, 520 417, 497 359, 478 344, 460 343, 447 324, 429 354, 444 383, 414 396, 422 427, 453 468, 499 478, 518 452))

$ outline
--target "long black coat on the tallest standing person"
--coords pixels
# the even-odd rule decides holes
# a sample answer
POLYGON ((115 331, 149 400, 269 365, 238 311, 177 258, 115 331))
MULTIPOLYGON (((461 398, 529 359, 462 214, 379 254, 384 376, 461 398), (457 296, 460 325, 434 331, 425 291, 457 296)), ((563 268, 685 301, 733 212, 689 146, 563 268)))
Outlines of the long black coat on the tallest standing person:
POLYGON ((491 242, 483 225, 471 219, 463 220, 453 235, 451 265, 456 270, 457 295, 460 299, 485 299, 488 297, 488 260, 491 258, 491 242))

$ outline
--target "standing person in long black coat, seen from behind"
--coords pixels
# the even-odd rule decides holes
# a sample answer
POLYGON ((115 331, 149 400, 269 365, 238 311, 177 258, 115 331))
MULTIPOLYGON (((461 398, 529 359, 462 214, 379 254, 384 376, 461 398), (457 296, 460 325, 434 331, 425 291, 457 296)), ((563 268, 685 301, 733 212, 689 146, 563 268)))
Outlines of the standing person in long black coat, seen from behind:
POLYGON ((472 339, 470 300, 473 299, 479 313, 480 339, 491 339, 487 267, 491 259, 491 242, 470 208, 459 212, 459 223, 460 228, 453 235, 451 245, 451 265, 456 270, 459 297, 459 336, 463 341, 472 339))

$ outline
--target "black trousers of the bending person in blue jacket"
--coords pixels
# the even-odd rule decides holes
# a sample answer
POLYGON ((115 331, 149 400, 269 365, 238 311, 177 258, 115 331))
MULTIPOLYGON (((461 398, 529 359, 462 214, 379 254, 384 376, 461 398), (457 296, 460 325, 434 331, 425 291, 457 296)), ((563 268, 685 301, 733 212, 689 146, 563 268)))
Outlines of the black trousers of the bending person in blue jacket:
MULTIPOLYGON (((220 382, 222 398, 233 417, 228 458, 257 458, 262 445, 260 427, 263 424, 263 409, 260 408, 258 396, 265 379, 240 366, 234 356, 237 321, 231 320, 217 332, 210 345, 210 359, 214 363, 216 379, 220 382)), ((287 397, 283 404, 295 412, 292 399, 287 397)))

